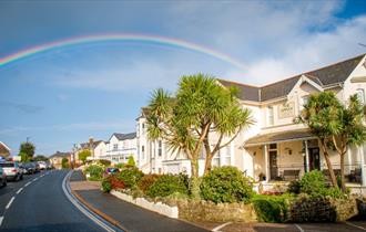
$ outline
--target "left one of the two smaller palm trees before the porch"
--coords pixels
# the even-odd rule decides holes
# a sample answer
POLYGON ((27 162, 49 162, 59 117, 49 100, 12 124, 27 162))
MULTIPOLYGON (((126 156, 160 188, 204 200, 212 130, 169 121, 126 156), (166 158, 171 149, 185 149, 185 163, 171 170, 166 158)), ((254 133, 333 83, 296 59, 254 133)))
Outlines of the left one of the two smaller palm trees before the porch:
POLYGON ((328 145, 333 141, 333 135, 339 127, 339 101, 333 92, 322 92, 311 95, 296 123, 305 124, 311 133, 317 137, 321 149, 327 164, 333 187, 337 188, 337 180, 329 159, 328 145))

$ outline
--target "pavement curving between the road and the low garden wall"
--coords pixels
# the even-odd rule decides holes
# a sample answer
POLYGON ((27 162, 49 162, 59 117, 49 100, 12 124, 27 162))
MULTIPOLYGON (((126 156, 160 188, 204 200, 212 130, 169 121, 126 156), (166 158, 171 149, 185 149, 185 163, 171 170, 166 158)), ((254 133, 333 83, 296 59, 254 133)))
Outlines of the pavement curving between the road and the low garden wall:
POLYGON ((100 190, 98 183, 84 180, 81 171, 70 178, 70 188, 88 208, 128 232, 205 232, 206 230, 122 201, 100 190))

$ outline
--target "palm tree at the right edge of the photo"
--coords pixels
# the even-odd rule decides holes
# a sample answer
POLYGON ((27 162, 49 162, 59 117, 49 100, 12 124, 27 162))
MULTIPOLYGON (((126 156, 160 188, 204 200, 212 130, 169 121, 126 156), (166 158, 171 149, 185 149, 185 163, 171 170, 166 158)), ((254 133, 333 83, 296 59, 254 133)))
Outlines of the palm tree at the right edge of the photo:
POLYGON ((359 146, 366 141, 366 127, 363 124, 364 106, 357 95, 349 97, 347 105, 342 105, 338 113, 338 123, 332 136, 333 145, 340 159, 340 188, 346 191, 345 156, 349 146, 359 146))

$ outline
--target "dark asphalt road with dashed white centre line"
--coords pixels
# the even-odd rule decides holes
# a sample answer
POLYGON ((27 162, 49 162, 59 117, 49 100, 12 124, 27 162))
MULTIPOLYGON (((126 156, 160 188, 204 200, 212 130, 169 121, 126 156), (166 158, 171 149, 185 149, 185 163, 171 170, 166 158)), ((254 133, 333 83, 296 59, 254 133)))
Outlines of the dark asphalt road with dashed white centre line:
POLYGON ((43 171, 0 189, 0 231, 103 231, 64 196, 68 171, 43 171))

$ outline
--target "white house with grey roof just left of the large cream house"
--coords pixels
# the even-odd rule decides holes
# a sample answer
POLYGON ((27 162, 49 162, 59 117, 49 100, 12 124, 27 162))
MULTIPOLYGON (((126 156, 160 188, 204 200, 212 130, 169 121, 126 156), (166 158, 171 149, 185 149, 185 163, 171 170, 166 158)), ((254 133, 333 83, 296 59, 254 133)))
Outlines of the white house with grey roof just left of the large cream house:
POLYGON ((99 155, 101 159, 110 160, 113 164, 126 162, 130 156, 133 156, 134 160, 138 162, 138 146, 136 146, 136 133, 120 134, 114 133, 108 143, 99 144, 95 149, 96 154, 101 151, 104 154, 99 155))

